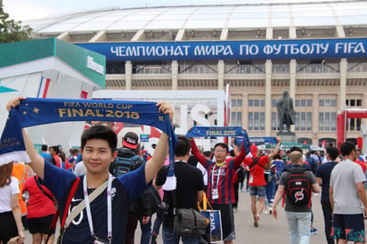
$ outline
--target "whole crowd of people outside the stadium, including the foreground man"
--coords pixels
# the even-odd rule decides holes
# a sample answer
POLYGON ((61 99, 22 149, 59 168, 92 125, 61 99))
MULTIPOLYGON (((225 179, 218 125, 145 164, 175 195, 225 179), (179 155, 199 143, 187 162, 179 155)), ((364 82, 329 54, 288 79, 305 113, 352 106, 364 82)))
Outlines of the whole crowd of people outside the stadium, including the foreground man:
MULTIPOLYGON (((19 103, 19 98, 12 99, 7 109, 19 103)), ((172 123, 173 108, 166 102, 158 106, 172 123)), ((67 154, 57 145, 43 145, 38 152, 25 130, 22 134, 30 163, 0 166, 0 243, 12 238, 23 243, 25 230, 32 243, 53 243, 55 231, 50 226, 57 212, 73 216, 69 225, 61 226, 61 243, 134 243, 138 223, 143 244, 157 243, 160 228, 164 243, 209 243, 207 236, 180 236, 174 231, 176 209, 198 209, 198 202, 207 198, 214 210, 220 210, 223 242, 230 244, 236 239, 235 227, 240 227, 234 226, 233 212, 242 204, 243 191, 250 195, 250 204, 243 204, 251 209, 255 228, 261 227, 262 214, 277 218, 283 199, 291 244, 309 243, 310 235, 318 232, 313 226, 312 192, 321 192, 328 244, 365 242, 366 157, 352 142, 339 149, 330 146, 326 155, 304 153, 298 147, 281 150, 279 138, 272 151, 257 150, 255 144, 247 151, 234 140, 202 151, 194 138, 178 135, 172 191, 165 187, 165 133, 152 155, 140 148, 133 132, 126 133, 122 148, 117 148, 117 135, 109 126, 87 128, 80 149, 67 154)))

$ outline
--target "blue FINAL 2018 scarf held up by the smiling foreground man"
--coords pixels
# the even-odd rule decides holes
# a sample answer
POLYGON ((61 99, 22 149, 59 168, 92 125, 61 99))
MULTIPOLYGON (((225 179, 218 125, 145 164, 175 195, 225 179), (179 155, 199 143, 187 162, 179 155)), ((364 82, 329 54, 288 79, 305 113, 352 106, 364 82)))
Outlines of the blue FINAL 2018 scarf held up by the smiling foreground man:
MULTIPOLYGON (((167 180, 175 181, 172 177, 175 177, 174 147, 177 139, 169 116, 159 113, 156 104, 117 100, 20 100, 20 105, 10 111, 0 139, 0 166, 12 161, 29 162, 21 128, 66 121, 120 121, 154 126, 168 135, 170 171, 167 180)), ((175 189, 175 183, 172 187, 175 189)))

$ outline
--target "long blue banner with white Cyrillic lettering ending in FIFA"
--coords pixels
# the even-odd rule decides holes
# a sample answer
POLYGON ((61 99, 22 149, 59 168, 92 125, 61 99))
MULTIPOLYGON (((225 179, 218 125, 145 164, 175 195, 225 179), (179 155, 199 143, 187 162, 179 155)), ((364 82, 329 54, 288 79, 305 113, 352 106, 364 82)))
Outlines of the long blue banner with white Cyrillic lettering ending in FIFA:
POLYGON ((367 38, 76 44, 107 61, 330 59, 366 57, 367 38))

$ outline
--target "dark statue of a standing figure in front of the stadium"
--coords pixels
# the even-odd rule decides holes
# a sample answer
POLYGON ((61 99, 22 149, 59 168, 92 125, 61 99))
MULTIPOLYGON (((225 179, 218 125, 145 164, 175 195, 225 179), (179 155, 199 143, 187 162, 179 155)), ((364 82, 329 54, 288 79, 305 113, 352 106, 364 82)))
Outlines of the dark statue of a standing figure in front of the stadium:
POLYGON ((290 132, 290 125, 294 125, 296 122, 296 112, 293 108, 293 99, 287 91, 283 92, 283 96, 278 100, 276 106, 278 108, 279 132, 283 132, 284 124, 287 126, 288 132, 290 132))

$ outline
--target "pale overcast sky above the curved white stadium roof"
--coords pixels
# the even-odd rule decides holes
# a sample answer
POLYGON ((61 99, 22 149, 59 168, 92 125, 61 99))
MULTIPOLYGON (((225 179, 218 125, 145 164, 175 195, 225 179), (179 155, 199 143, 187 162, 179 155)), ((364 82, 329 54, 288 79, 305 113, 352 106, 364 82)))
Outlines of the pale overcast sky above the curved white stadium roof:
MULTIPOLYGON (((1 2, 2 0, 0 0, 1 2)), ((110 8, 134 8, 199 4, 257 4, 279 2, 318 2, 320 0, 3 0, 4 12, 12 20, 36 20, 74 12, 110 8)), ((323 0, 325 1, 325 0, 323 0)), ((335 1, 335 0, 326 0, 335 1)))

